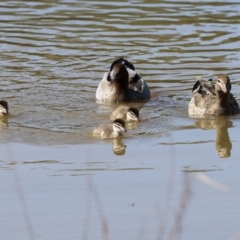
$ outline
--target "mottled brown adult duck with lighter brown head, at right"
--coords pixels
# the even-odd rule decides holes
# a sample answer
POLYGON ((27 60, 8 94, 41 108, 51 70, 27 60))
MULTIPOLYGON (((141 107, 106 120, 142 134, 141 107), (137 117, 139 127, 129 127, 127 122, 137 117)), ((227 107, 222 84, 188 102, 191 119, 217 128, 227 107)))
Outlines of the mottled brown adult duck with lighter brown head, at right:
POLYGON ((221 74, 215 84, 197 77, 188 105, 189 115, 221 116, 239 114, 240 109, 231 91, 228 75, 221 74))

